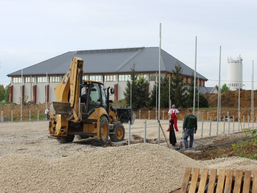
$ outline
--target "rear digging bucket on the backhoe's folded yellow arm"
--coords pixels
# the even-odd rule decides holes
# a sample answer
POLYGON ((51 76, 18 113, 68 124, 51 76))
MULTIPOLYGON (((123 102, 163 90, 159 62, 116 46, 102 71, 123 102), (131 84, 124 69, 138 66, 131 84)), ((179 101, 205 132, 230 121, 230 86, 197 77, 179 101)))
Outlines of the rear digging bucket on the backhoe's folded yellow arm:
MULTIPOLYGON (((70 115, 73 114, 73 106, 69 102, 52 102, 50 106, 50 113, 53 115, 70 115)), ((80 103, 81 116, 88 115, 85 103, 80 103)))

